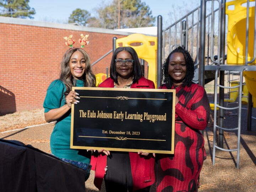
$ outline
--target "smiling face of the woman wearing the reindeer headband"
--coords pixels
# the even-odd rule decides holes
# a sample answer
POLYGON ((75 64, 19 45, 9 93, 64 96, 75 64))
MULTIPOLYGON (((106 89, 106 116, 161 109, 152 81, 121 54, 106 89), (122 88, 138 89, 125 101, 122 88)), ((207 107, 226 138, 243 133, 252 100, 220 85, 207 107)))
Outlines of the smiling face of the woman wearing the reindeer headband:
POLYGON ((70 72, 75 79, 83 80, 85 72, 86 60, 80 51, 74 52, 69 60, 70 72))

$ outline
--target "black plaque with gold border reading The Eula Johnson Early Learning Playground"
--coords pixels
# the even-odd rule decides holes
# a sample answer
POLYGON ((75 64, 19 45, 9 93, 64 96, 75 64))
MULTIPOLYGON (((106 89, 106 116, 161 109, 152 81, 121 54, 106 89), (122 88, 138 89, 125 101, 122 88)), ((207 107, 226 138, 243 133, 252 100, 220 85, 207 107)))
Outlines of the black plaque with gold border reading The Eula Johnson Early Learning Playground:
POLYGON ((175 90, 72 90, 70 148, 174 154, 175 90))

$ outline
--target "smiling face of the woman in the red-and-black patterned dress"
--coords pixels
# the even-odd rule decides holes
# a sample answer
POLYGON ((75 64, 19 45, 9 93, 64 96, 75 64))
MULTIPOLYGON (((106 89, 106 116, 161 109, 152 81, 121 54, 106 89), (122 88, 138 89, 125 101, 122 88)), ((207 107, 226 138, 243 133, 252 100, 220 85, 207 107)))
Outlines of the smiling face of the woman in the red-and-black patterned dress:
POLYGON ((168 64, 168 74, 171 76, 174 85, 181 85, 186 79, 187 66, 182 53, 176 52, 171 54, 168 64))

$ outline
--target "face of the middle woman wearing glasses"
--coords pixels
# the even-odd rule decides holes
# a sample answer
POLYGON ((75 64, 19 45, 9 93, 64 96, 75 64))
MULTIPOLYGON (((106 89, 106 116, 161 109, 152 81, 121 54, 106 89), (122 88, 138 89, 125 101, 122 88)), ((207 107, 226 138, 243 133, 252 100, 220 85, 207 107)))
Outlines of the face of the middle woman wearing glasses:
MULTIPOLYGON (((116 59, 133 59, 132 55, 128 53, 127 51, 121 51, 117 54, 116 59)), ((124 62, 122 65, 116 64, 116 72, 118 73, 118 76, 120 76, 123 79, 129 79, 133 76, 133 65, 128 66, 124 62)))

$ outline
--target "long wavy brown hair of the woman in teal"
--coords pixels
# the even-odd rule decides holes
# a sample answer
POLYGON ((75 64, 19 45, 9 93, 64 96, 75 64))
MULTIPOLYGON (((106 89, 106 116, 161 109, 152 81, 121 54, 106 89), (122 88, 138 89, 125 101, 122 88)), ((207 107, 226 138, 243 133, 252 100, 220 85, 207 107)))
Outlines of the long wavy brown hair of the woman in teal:
POLYGON ((96 84, 96 78, 95 78, 95 75, 92 73, 91 60, 89 58, 89 55, 85 52, 85 50, 80 48, 68 49, 63 56, 63 59, 61 62, 61 70, 60 70, 60 80, 63 81, 66 86, 66 91, 64 92, 65 97, 72 90, 72 86, 76 86, 76 80, 71 74, 70 68, 69 68, 69 60, 71 58, 71 55, 76 51, 81 52, 84 55, 85 61, 86 61, 86 67, 83 74, 84 86, 95 87, 95 84, 96 84))

